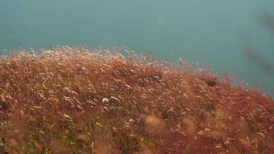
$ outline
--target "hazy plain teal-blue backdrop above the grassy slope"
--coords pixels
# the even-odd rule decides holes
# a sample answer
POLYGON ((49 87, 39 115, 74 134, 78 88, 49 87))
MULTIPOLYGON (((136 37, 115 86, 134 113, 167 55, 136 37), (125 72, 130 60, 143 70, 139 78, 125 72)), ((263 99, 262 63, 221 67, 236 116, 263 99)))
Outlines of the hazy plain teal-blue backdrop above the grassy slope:
POLYGON ((274 88, 273 76, 245 57, 246 45, 273 63, 274 37, 261 15, 273 0, 9 0, 0 2, 0 53, 23 47, 127 46, 169 60, 209 65, 238 82, 274 88))

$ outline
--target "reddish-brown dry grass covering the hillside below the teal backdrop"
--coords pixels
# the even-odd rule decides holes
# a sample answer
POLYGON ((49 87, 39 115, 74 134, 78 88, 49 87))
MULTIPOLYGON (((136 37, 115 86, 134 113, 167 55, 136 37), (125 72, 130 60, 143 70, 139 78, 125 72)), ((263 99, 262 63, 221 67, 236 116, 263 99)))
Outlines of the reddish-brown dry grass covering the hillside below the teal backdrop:
POLYGON ((274 101, 142 55, 0 59, 0 153, 274 153, 274 101))

